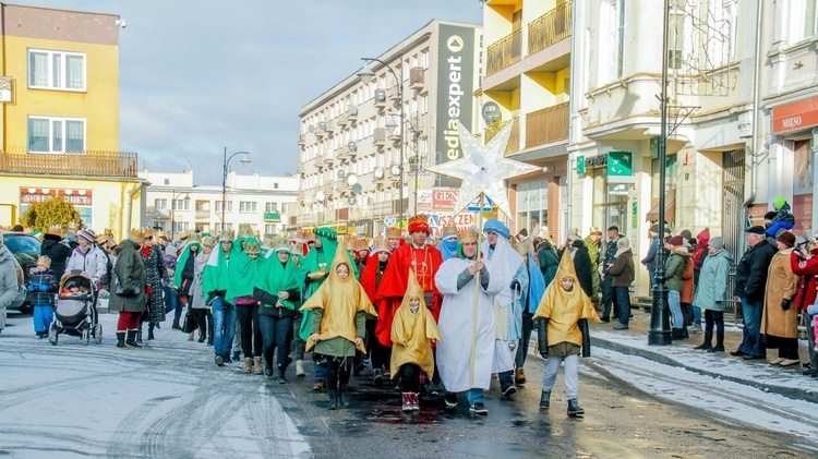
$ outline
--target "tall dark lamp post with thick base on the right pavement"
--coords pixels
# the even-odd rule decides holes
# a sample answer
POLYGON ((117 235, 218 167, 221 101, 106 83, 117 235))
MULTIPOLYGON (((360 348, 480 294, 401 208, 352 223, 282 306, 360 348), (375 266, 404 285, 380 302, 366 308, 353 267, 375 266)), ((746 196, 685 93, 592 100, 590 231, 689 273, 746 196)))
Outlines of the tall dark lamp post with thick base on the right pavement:
POLYGON ((659 136, 659 250, 657 251, 657 270, 653 280, 653 301, 650 309, 650 330, 648 345, 667 346, 671 343, 671 322, 667 312, 667 286, 664 283, 664 188, 665 160, 667 148, 667 0, 664 0, 662 11, 664 24, 662 29, 662 100, 661 100, 661 133, 659 136))

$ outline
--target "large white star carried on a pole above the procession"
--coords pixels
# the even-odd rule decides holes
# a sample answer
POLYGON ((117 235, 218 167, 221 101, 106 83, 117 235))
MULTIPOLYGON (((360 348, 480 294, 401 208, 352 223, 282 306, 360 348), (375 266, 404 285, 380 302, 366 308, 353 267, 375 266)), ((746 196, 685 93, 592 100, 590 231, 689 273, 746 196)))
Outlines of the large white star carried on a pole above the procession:
POLYGON ((462 158, 428 169, 441 176, 462 180, 460 194, 455 204, 455 214, 469 205, 480 193, 485 193, 503 214, 514 220, 508 206, 508 188, 505 181, 515 177, 534 172, 540 168, 525 162, 505 158, 512 125, 508 123, 488 145, 481 145, 471 133, 458 122, 462 158))

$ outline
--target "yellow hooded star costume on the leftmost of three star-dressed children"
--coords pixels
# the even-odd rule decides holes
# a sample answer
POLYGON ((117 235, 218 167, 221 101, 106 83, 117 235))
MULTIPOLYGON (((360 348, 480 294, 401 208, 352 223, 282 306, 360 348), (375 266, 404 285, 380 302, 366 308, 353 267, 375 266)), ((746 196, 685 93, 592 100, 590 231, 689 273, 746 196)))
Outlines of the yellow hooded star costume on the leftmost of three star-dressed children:
MULTIPOLYGON (((348 346, 338 339, 342 338, 352 343, 356 341, 359 336, 356 319, 358 313, 377 317, 366 292, 356 280, 347 252, 342 249, 335 251, 327 280, 301 306, 301 311, 306 310, 316 311, 314 316, 320 316, 321 319, 317 345, 310 339, 306 341, 306 350, 315 347, 315 352, 334 357, 350 357, 347 355, 348 346), (340 264, 345 264, 349 269, 349 276, 346 279, 338 277, 337 268, 340 264)), ((366 353, 363 345, 357 348, 366 353)))

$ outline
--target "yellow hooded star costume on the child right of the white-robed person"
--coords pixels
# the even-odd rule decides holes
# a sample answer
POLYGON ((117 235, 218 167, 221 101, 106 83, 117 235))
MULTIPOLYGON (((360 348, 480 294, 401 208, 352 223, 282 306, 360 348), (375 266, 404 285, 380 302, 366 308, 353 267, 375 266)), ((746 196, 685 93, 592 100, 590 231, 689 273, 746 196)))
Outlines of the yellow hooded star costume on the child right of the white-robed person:
MULTIPOLYGON (((582 333, 579 329, 579 321, 582 318, 600 321, 591 304, 591 299, 580 288, 574 269, 574 258, 568 251, 563 253, 560 267, 554 276, 554 281, 545 289, 539 307, 533 318, 548 318, 548 346, 569 342, 578 347, 582 346, 582 333), (565 278, 574 279, 574 288, 566 291, 561 281, 565 278)), ((551 352, 549 352, 551 353, 551 352)))

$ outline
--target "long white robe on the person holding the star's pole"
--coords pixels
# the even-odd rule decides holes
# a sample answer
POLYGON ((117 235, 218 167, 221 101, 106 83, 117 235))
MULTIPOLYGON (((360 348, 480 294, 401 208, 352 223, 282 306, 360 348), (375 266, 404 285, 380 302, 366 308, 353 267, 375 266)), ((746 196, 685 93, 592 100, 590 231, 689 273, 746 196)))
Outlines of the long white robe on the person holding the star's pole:
POLYGON ((450 392, 461 392, 471 388, 488 389, 491 385, 492 361, 494 360, 494 295, 503 288, 503 278, 492 276, 492 264, 483 261, 489 271, 489 288, 476 291, 472 278, 459 291, 457 277, 474 262, 449 258, 443 262, 434 277, 437 289, 443 293, 441 316, 437 328, 441 342, 437 343, 437 369, 444 387, 450 392), (471 379, 471 340, 474 330, 474 295, 478 295, 477 342, 474 352, 474 377, 471 379))

